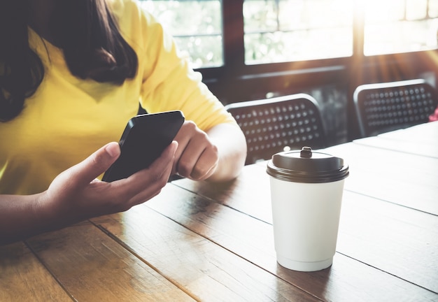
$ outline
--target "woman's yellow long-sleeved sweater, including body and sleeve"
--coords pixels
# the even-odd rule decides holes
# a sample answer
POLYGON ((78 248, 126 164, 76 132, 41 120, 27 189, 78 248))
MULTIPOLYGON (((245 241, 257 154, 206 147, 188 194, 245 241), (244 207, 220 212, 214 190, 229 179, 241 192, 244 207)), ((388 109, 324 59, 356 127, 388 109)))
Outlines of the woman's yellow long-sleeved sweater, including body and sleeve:
POLYGON ((34 194, 56 175, 110 141, 118 141, 139 102, 148 112, 182 110, 204 130, 233 118, 178 56, 174 41, 134 0, 112 0, 122 36, 139 70, 122 86, 74 77, 62 51, 29 29, 45 78, 24 110, 0 122, 0 194, 34 194))

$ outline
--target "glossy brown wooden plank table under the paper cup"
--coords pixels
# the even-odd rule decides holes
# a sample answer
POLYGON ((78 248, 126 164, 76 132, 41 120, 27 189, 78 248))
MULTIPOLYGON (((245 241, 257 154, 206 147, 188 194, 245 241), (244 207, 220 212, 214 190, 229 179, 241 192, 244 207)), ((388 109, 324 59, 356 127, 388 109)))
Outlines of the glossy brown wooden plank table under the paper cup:
POLYGON ((0 301, 438 301, 438 122, 326 151, 351 171, 330 268, 276 263, 262 162, 0 247, 0 301))

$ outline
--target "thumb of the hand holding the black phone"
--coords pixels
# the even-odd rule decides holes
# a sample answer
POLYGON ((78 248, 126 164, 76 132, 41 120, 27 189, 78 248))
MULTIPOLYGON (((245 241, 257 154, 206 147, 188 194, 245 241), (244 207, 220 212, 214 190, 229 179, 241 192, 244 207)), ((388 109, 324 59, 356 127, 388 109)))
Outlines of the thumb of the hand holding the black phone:
POLYGON ((119 144, 115 142, 108 143, 79 164, 76 164, 76 166, 71 167, 71 177, 76 179, 78 185, 87 185, 108 170, 119 155, 119 144))

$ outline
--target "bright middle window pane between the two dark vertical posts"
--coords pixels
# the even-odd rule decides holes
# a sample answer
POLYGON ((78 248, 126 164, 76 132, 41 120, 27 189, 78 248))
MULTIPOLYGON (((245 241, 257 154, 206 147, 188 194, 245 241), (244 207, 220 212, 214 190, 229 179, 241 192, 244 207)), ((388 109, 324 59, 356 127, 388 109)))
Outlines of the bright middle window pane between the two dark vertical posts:
POLYGON ((349 0, 244 0, 245 63, 351 56, 353 3, 349 0))

